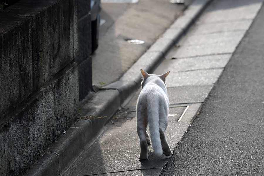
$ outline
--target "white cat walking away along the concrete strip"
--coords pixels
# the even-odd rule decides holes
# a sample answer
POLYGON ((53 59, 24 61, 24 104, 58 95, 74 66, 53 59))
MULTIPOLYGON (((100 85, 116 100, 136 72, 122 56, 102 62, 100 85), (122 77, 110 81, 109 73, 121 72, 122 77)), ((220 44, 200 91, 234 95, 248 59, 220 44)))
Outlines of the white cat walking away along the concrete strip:
POLYGON ((143 75, 142 90, 139 94, 136 113, 137 131, 140 138, 140 160, 148 159, 148 144, 150 138, 154 153, 161 156, 171 155, 170 147, 165 138, 168 126, 169 97, 165 85, 165 78, 170 72, 163 75, 148 74, 140 70, 143 75), (149 124, 150 138, 146 131, 149 124))

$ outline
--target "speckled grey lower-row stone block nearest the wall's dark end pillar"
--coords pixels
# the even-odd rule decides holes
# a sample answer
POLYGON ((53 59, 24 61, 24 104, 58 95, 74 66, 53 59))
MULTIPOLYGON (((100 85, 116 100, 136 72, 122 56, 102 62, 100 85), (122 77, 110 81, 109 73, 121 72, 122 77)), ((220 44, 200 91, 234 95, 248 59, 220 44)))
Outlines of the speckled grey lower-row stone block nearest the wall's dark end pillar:
POLYGON ((75 122, 78 114, 78 67, 67 67, 60 77, 53 81, 55 106, 55 136, 68 129, 75 122))

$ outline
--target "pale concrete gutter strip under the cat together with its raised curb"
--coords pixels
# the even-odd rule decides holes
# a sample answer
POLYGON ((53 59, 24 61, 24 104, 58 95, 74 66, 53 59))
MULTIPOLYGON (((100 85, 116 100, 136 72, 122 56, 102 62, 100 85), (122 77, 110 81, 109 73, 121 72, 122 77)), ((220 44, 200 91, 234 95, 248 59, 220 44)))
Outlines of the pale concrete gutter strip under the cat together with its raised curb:
POLYGON ((82 109, 82 114, 110 117, 120 106, 124 107, 112 121, 109 122, 109 118, 79 121, 26 175, 159 175, 168 158, 156 158, 149 146, 149 159, 138 160, 139 140, 136 118, 133 117, 141 82, 140 68, 153 72, 165 57, 154 73, 171 71, 166 80, 170 97, 170 122, 166 135, 174 149, 262 4, 257 0, 214 1, 196 21, 208 2, 194 1, 119 81, 99 90, 82 109), (194 27, 173 47, 194 21, 194 27), (79 153, 82 154, 75 158, 79 153), (69 161, 75 159, 71 166, 69 161))

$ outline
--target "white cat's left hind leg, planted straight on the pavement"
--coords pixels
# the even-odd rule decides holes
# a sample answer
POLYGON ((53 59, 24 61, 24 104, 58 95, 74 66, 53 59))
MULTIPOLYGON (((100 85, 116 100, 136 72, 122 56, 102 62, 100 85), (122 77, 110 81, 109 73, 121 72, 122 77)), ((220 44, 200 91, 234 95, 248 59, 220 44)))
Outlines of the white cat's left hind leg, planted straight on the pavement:
POLYGON ((138 131, 138 136, 140 138, 140 155, 139 155, 139 160, 146 160, 148 159, 148 141, 146 138, 146 124, 144 117, 139 117, 137 119, 137 131, 138 131))

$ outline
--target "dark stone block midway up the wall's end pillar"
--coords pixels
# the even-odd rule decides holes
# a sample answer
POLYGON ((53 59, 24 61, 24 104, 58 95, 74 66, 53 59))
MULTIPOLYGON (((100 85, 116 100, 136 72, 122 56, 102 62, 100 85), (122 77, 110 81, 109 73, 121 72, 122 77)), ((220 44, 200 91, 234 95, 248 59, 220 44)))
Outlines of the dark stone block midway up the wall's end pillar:
POLYGON ((91 54, 91 16, 86 15, 78 20, 79 55, 75 62, 80 63, 91 54))

